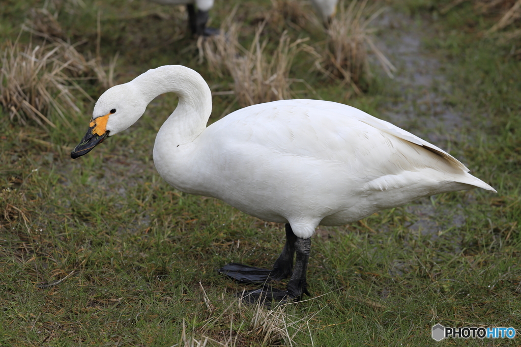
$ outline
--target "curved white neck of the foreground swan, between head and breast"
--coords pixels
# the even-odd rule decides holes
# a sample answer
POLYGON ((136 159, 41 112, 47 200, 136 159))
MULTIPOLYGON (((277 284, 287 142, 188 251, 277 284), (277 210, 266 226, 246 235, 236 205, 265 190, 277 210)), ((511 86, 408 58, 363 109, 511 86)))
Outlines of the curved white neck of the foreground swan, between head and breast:
MULTIPOLYGON (((132 82, 145 102, 156 96, 173 92, 179 96, 177 108, 161 127, 176 141, 192 141, 206 128, 212 113, 212 92, 205 80, 194 70, 181 65, 167 65, 151 69, 132 82)), ((159 135, 159 134, 158 134, 159 135)))

